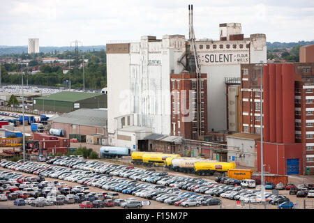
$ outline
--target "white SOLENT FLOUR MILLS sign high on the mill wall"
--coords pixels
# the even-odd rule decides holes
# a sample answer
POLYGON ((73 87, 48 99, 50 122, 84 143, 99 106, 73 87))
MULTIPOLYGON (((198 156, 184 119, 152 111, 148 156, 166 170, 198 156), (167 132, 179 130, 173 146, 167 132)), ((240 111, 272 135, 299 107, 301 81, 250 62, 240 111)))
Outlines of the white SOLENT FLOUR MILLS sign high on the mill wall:
POLYGON ((201 65, 227 65, 249 63, 248 52, 241 53, 200 53, 201 65))

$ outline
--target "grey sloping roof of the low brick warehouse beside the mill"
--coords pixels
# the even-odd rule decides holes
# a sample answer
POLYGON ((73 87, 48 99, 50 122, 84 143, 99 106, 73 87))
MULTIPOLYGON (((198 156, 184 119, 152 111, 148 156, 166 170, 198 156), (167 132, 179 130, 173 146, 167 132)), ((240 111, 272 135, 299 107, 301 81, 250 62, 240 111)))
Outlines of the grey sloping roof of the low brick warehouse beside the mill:
POLYGON ((74 112, 50 118, 55 123, 68 123, 95 127, 107 127, 107 111, 98 109, 77 109, 74 112))

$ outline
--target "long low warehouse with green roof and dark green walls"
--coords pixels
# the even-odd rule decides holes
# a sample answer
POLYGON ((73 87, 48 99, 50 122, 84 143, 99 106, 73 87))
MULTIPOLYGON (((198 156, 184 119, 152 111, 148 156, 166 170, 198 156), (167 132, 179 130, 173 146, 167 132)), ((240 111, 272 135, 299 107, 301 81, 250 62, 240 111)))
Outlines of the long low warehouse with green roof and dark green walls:
POLYGON ((107 95, 103 93, 61 91, 33 100, 33 109, 45 112, 67 113, 82 108, 107 108, 107 95))

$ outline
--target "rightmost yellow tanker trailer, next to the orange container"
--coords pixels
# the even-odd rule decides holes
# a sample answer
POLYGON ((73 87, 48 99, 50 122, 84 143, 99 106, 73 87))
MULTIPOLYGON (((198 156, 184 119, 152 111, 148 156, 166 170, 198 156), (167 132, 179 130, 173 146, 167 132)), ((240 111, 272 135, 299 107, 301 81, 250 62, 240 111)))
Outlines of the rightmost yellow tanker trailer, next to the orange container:
POLYGON ((195 162, 195 174, 202 176, 213 175, 215 172, 225 173, 229 169, 235 169, 235 162, 195 162))

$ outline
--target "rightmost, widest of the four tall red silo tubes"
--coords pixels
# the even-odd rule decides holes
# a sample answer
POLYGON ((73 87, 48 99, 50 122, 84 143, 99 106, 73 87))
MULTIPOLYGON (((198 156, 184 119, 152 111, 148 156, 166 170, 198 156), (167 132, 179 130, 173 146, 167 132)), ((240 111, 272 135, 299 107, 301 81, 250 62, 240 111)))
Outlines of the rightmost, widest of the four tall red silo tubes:
POLYGON ((283 143, 293 144, 294 130, 294 65, 283 64, 283 143))

